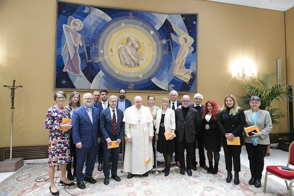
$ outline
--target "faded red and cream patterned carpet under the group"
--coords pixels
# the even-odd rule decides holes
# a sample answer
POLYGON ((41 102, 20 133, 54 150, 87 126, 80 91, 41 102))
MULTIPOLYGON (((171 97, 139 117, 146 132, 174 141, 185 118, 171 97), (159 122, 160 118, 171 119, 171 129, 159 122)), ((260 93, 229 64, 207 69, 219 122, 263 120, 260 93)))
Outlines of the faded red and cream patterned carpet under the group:
MULTIPOLYGON (((198 156, 198 153, 196 153, 198 156)), ((196 158, 196 160, 199 160, 196 158)), ((158 161, 164 163, 163 156, 158 156, 158 161)), ((197 165, 199 166, 199 165, 197 165)), ((197 167, 197 171, 193 171, 192 176, 180 174, 180 169, 175 163, 171 164, 171 171, 168 176, 164 173, 153 175, 149 171, 148 177, 136 175, 128 179, 127 173, 121 173, 122 164, 119 163, 118 176, 121 182, 116 182, 110 178, 109 185, 104 185, 104 174, 97 170, 96 162, 93 172, 93 178, 97 180, 96 184, 85 182, 86 188, 81 190, 75 186, 66 186, 67 192, 73 195, 288 195, 287 187, 281 186, 279 183, 268 178, 267 192, 263 192, 264 176, 262 178, 262 186, 255 188, 254 185, 248 185, 250 179, 249 168, 241 165, 240 184, 235 185, 232 182, 226 183, 227 172, 225 170, 224 157, 220 155, 219 172, 216 175, 208 174, 202 167, 197 167), (278 185, 278 186, 277 186, 278 185)), ((158 170, 163 170, 164 166, 158 170)), ((27 164, 9 178, 0 183, 0 195, 35 195, 45 196, 51 195, 49 190, 49 181, 35 182, 35 179, 44 176, 48 179, 48 171, 46 163, 27 164)), ((234 175, 234 174, 233 174, 234 175)), ((55 172, 55 177, 61 177, 60 171, 55 172)), ((76 178, 75 178, 76 179, 76 178)), ((60 178, 56 179, 59 182, 60 178)), ((76 180, 75 180, 76 181, 76 180)), ((75 182, 74 181, 74 182, 75 182)), ((57 186, 58 183, 56 183, 57 186)), ((64 186, 57 186, 60 195, 70 195, 64 189, 64 186)))

